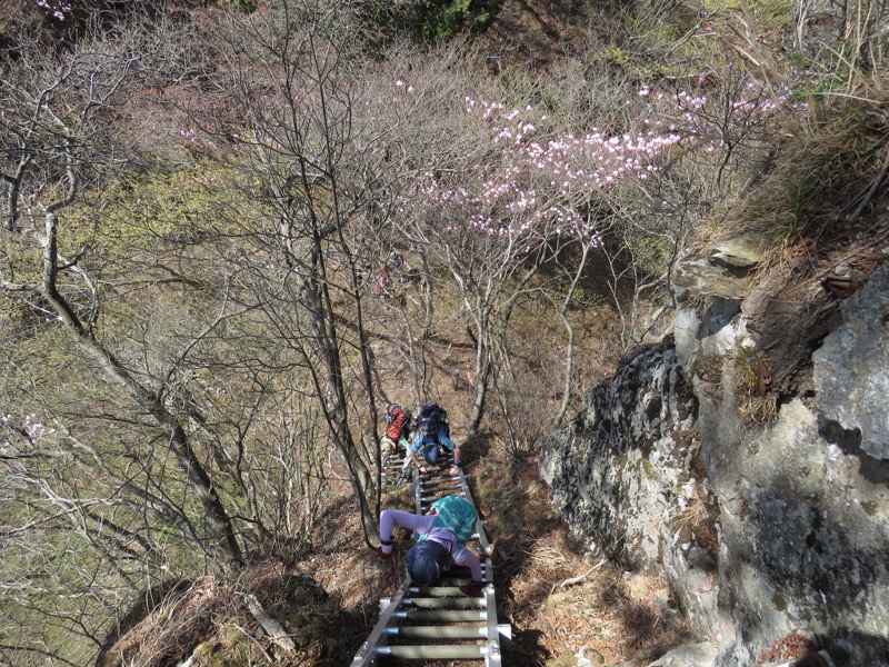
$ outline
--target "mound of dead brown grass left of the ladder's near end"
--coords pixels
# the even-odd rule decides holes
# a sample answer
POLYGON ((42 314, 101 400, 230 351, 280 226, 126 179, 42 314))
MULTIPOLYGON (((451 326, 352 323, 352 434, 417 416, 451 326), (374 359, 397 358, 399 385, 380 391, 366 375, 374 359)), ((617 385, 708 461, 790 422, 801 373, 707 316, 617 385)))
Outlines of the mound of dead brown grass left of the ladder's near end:
POLYGON ((372 627, 381 595, 400 571, 381 566, 363 545, 358 514, 340 487, 327 498, 316 549, 284 566, 256 563, 237 579, 204 577, 180 586, 108 651, 102 667, 192 667, 228 664, 339 666, 351 660, 372 627), (259 628, 247 596, 279 621, 297 647, 283 655, 259 628))

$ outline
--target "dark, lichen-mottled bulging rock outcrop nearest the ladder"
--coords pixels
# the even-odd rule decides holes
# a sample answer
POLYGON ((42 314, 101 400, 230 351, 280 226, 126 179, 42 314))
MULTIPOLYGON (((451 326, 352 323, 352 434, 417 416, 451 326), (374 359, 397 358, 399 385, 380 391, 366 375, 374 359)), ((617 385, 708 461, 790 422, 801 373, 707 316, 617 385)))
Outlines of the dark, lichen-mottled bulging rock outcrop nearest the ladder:
POLYGON ((716 504, 692 472, 700 457, 696 406, 676 348, 641 350, 550 435, 540 477, 589 550, 665 574, 689 625, 713 637, 722 624, 715 530, 698 521, 707 524, 716 504))

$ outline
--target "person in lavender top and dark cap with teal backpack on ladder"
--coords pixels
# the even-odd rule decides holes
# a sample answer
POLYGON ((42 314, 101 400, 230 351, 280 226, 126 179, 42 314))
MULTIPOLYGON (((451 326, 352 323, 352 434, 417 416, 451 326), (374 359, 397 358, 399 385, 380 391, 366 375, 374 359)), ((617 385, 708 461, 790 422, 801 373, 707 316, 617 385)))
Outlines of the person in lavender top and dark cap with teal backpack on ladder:
POLYGON ((460 496, 444 496, 432 504, 431 512, 422 516, 401 509, 382 510, 377 556, 391 558, 392 529, 394 526, 408 528, 413 530, 417 544, 408 550, 404 560, 408 576, 417 586, 432 586, 453 561, 471 573, 467 594, 481 597, 481 561, 466 546, 476 532, 476 508, 460 496))

